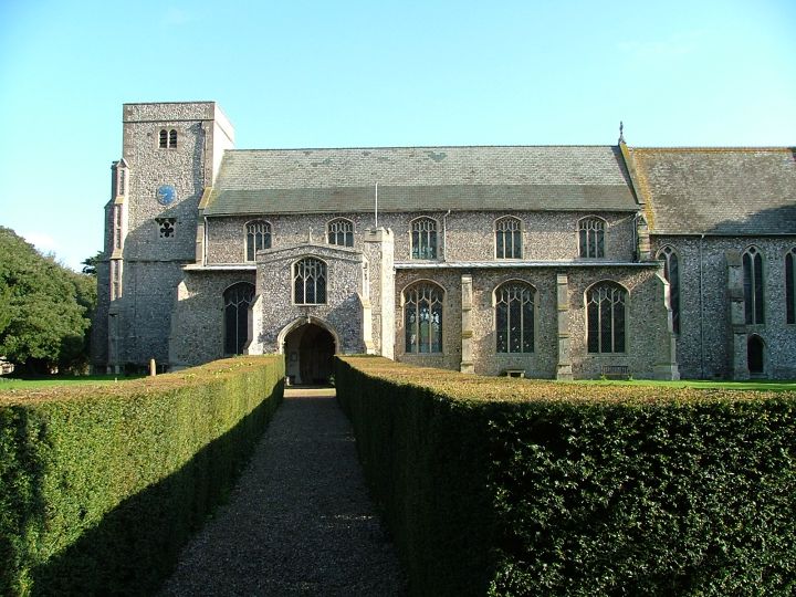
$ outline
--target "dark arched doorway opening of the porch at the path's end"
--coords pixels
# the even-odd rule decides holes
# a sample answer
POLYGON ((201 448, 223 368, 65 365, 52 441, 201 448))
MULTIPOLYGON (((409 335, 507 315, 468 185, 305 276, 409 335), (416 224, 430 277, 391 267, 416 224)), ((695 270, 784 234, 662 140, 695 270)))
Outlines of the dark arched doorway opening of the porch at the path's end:
POLYGON ((305 323, 284 339, 285 368, 291 385, 324 385, 333 373, 335 338, 325 327, 305 323))

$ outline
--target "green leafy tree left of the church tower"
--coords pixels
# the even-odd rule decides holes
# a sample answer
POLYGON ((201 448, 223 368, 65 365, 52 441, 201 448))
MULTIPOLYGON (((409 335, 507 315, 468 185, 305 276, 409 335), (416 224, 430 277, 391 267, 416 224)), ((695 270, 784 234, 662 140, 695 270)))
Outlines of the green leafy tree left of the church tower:
POLYGON ((0 356, 22 370, 80 368, 96 282, 0 227, 0 356))

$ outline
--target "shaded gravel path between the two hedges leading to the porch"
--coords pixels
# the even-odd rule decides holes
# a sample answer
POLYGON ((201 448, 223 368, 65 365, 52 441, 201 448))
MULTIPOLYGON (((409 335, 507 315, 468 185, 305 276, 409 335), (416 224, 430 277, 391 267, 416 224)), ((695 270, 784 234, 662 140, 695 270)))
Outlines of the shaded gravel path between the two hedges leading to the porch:
POLYGON ((404 595, 332 390, 285 391, 230 501, 161 595, 404 595))

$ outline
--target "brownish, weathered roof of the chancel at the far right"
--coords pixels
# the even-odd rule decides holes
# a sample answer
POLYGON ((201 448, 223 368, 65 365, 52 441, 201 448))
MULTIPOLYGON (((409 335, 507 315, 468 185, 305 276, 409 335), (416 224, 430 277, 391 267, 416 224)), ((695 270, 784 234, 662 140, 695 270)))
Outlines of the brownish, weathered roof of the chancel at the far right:
POLYGON ((796 148, 631 148, 657 234, 796 234, 796 148))

